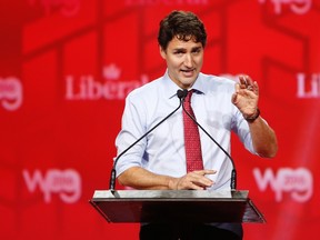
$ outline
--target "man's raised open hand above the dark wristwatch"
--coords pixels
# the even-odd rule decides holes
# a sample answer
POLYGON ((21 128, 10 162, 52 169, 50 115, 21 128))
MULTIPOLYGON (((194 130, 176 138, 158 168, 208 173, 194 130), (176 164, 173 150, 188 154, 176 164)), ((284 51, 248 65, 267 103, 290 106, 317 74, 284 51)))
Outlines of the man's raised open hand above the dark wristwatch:
POLYGON ((249 76, 240 76, 232 94, 232 103, 241 111, 244 118, 254 116, 258 108, 259 87, 249 76))

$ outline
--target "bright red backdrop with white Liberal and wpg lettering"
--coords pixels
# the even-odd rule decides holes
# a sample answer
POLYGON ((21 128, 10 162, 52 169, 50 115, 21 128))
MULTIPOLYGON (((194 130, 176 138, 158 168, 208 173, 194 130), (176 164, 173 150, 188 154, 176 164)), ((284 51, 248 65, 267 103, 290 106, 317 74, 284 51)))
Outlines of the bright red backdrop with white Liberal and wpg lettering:
POLYGON ((207 26, 203 72, 247 73, 279 154, 232 139, 238 189, 267 219, 244 239, 318 239, 319 0, 2 0, 0 238, 138 239, 88 203, 109 188, 124 98, 162 74, 159 21, 192 10, 207 26))

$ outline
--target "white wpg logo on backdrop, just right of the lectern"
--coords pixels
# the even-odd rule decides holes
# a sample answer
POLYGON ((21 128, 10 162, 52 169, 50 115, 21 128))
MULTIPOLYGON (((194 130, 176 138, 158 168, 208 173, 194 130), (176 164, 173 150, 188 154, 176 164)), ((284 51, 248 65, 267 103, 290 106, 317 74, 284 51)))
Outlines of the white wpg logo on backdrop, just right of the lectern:
POLYGON ((264 174, 258 168, 253 169, 253 176, 260 191, 270 188, 276 193, 276 201, 282 200, 282 193, 289 192, 293 200, 298 202, 308 201, 313 193, 313 179, 309 170, 304 168, 290 169, 282 168, 277 176, 271 169, 267 169, 264 174))

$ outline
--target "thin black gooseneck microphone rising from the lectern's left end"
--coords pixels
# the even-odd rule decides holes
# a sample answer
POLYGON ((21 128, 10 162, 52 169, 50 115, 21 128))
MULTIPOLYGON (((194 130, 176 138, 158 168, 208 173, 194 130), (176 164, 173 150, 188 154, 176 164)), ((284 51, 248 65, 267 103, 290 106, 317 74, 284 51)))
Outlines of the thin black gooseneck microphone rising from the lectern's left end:
MULTIPOLYGON (((187 90, 186 90, 187 91, 187 90)), ((111 176, 110 176, 110 182, 109 182, 109 188, 111 190, 112 193, 114 193, 114 188, 116 188, 116 166, 118 163, 118 160, 127 152, 129 151, 133 146, 136 146, 139 141, 141 141, 146 136, 148 136, 151 131, 153 131, 156 128, 158 128, 162 122, 164 122, 168 118, 170 118, 176 111, 178 111, 178 109, 181 107, 182 104, 182 99, 184 99, 188 94, 188 91, 182 91, 182 90, 178 90, 177 91, 177 96, 180 99, 180 103, 178 106, 178 108, 176 108, 171 113, 169 113, 166 118, 163 118, 160 122, 158 122, 153 128, 151 128, 149 131, 147 131, 143 136, 141 136, 139 139, 137 139, 131 146, 129 146, 126 150, 123 150, 114 160, 113 162, 113 167, 111 170, 111 176)))

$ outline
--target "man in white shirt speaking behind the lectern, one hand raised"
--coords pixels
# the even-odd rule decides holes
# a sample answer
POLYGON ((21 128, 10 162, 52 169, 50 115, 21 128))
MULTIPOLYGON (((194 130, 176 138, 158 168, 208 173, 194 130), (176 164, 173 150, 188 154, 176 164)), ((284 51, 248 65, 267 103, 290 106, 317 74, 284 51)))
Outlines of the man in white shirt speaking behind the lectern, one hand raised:
MULTIPOLYGON (((158 42, 167 62, 161 78, 133 90, 126 100, 122 129, 117 137, 121 153, 179 106, 177 90, 192 92, 197 121, 228 152, 231 131, 253 154, 272 158, 278 150, 273 130, 258 109, 259 87, 248 76, 239 82, 200 72, 207 33, 191 12, 173 11, 160 22, 158 42)), ((230 189, 232 164, 203 131, 200 154, 203 169, 187 170, 183 111, 180 108, 117 163, 118 180, 134 189, 230 189)), ((241 224, 142 224, 140 239, 242 239, 241 224)))

